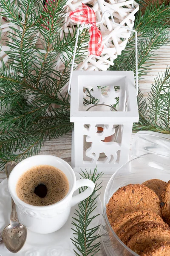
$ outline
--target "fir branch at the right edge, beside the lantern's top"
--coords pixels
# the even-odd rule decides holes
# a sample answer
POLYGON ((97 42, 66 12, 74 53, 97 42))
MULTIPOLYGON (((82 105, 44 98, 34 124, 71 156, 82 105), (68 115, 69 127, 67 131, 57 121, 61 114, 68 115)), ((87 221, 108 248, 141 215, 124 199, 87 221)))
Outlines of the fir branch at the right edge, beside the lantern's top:
POLYGON ((148 93, 147 101, 139 92, 139 122, 133 130, 157 131, 170 134, 170 68, 155 79, 148 93))

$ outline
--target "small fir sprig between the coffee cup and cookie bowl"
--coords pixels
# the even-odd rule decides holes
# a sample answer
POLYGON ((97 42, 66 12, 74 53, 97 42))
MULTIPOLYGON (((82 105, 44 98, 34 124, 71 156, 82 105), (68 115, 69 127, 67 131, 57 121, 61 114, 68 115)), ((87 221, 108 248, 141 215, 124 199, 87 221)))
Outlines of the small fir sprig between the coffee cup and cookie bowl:
MULTIPOLYGON (((80 173, 82 178, 92 180, 95 183, 94 192, 85 200, 78 204, 78 210, 74 213, 75 217, 73 217, 72 224, 74 228, 74 239, 72 243, 76 247, 77 250, 74 250, 76 256, 95 256, 96 253, 100 250, 100 241, 97 242, 96 240, 100 238, 99 232, 100 225, 96 227, 90 227, 91 222, 95 221, 95 218, 99 216, 99 214, 94 215, 94 210, 96 209, 96 198, 99 196, 96 195, 102 186, 101 183, 97 184, 97 180, 102 177, 102 173, 96 174, 97 168, 94 169, 94 173, 90 174, 85 171, 80 173), (80 253, 78 253, 78 252, 80 253)), ((85 189, 79 189, 79 193, 83 192, 85 189)))

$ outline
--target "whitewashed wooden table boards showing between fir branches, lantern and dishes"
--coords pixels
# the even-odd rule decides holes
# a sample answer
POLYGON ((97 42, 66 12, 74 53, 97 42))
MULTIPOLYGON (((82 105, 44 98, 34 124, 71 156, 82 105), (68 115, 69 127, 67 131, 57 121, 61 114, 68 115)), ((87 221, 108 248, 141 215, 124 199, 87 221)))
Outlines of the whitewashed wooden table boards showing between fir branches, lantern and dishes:
MULTIPOLYGON (((159 57, 157 57, 157 60, 151 67, 150 73, 147 76, 144 76, 143 79, 139 81, 139 86, 142 93, 144 93, 144 97, 147 97, 147 93, 150 91, 150 86, 154 82, 154 78, 158 76, 158 73, 164 72, 166 70, 166 67, 170 66, 170 46, 161 47, 159 50, 156 51, 156 53, 159 55, 159 57)), ((132 140, 133 137, 134 134, 132 134, 132 140)), ((46 141, 42 146, 39 154, 55 155, 71 164, 71 132, 55 140, 46 141)), ((103 199, 105 187, 110 177, 111 175, 103 175, 102 177, 103 187, 100 196, 101 200, 103 199)), ((0 172, 0 181, 4 178, 6 178, 5 172, 0 172)), ((104 255, 105 254, 101 249, 100 253, 98 253, 98 256, 104 255)))

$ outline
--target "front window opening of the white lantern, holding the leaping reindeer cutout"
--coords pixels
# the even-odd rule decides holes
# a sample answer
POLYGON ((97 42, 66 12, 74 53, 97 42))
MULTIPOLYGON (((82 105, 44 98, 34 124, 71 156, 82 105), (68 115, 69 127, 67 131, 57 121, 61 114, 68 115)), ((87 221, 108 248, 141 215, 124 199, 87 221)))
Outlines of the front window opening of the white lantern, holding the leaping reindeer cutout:
POLYGON ((119 164, 123 125, 84 125, 83 163, 119 164))

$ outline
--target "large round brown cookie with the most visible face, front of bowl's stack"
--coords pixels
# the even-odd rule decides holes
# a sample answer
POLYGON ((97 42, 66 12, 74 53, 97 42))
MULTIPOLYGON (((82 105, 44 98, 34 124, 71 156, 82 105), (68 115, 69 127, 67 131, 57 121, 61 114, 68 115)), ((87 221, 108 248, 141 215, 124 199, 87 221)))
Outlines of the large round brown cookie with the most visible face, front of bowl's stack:
POLYGON ((161 216, 158 196, 145 185, 129 184, 119 188, 106 206, 110 223, 125 212, 137 210, 150 210, 161 216))

